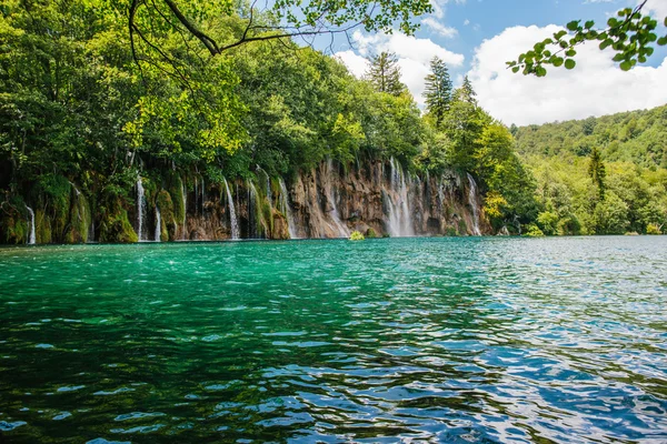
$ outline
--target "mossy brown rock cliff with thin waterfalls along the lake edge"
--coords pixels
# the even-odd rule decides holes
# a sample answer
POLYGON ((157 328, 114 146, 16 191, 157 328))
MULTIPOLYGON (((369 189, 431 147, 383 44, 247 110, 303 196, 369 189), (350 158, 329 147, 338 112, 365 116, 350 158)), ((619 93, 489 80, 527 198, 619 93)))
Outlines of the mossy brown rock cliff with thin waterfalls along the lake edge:
MULTIPOLYGON (((288 183, 261 169, 253 180, 220 184, 175 173, 159 183, 139 180, 135 202, 103 205, 111 213, 97 219, 76 190, 71 221, 60 222, 67 235, 43 235, 56 224, 36 211, 37 243, 348 238, 352 231, 368 238, 490 233, 477 193, 470 175, 411 175, 394 160, 357 168, 322 162, 288 183)), ((28 243, 28 212, 17 208, 11 228, 20 239, 13 242, 28 243)))

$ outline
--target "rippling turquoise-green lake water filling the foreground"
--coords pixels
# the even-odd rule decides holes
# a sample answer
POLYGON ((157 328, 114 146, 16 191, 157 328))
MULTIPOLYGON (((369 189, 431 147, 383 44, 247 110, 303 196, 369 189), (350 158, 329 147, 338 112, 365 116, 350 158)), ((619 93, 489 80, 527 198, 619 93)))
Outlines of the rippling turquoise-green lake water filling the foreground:
POLYGON ((667 238, 0 249, 0 442, 667 441, 667 238))

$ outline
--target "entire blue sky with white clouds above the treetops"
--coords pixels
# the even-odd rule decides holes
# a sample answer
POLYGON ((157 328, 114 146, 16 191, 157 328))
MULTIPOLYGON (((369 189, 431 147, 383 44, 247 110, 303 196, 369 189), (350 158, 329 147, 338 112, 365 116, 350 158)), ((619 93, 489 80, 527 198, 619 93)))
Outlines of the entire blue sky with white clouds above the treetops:
MULTIPOLYGON (((606 23, 621 8, 638 0, 431 0, 434 13, 421 17, 415 37, 399 32, 355 32, 354 48, 341 46, 339 57, 355 73, 366 71, 366 58, 380 51, 399 57, 402 81, 424 103, 424 78, 429 60, 438 56, 449 65, 455 85, 468 74, 480 104, 506 124, 584 119, 667 103, 667 49, 658 49, 649 63, 620 71, 613 53, 595 43, 580 47, 574 71, 551 69, 546 78, 512 74, 505 62, 550 37, 574 19, 606 23)), ((667 0, 648 0, 659 22, 667 17, 667 0)), ((667 33, 660 28, 663 34, 667 33)))

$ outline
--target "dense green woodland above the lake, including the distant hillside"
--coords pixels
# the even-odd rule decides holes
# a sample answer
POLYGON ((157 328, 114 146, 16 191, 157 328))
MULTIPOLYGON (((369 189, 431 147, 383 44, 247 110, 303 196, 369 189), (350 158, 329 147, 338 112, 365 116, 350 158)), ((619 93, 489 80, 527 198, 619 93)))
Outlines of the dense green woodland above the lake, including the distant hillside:
MULTIPOLYGON (((217 41, 247 32, 247 4, 222 16, 193 4, 186 12, 217 41)), ((365 79, 287 38, 211 57, 153 6, 133 32, 123 2, 0 7, 0 242, 137 241, 138 186, 161 211, 157 239, 175 240, 198 186, 202 202, 205 186, 233 199, 245 181, 273 221, 289 211, 277 179, 291 185, 322 162, 475 178, 488 233, 665 230, 665 109, 508 129, 435 59, 422 112, 391 54, 365 79)))

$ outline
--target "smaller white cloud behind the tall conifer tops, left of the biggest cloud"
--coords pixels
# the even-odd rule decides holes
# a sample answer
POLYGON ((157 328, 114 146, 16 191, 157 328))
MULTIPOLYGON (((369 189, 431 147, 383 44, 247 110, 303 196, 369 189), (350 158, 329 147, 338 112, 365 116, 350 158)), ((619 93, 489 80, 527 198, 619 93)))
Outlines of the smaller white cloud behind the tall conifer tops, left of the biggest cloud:
MULTIPOLYGON (((460 1, 460 0, 459 0, 460 1)), ((357 77, 364 75, 368 67, 366 58, 382 51, 395 52, 398 56, 398 64, 401 69, 401 81, 408 87, 415 100, 424 104, 424 78, 430 72, 430 60, 439 57, 450 67, 464 64, 465 57, 451 52, 430 39, 418 39, 400 32, 392 34, 377 33, 366 36, 360 31, 352 34, 352 40, 358 48, 354 51, 341 51, 335 56, 349 68, 357 77)))

